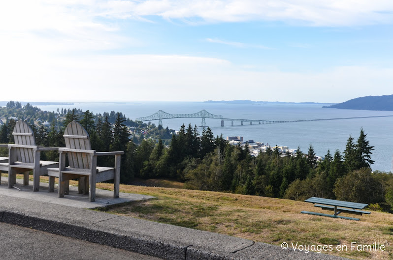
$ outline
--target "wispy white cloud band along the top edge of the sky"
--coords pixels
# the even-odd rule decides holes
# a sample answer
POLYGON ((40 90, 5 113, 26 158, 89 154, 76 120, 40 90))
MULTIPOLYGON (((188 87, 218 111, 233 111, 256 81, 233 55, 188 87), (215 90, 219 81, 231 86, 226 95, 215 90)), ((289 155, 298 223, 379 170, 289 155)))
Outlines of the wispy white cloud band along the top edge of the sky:
POLYGON ((205 22, 283 21, 308 26, 357 26, 393 21, 390 0, 113 0, 101 5, 106 16, 205 22))

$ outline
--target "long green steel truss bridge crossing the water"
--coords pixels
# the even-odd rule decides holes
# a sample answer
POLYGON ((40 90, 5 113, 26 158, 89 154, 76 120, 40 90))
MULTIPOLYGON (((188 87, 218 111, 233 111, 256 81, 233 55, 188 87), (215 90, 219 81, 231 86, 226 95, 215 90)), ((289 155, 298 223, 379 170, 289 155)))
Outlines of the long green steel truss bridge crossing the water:
MULTIPOLYGON (((393 115, 392 115, 393 116, 393 115)), ((221 126, 224 126, 224 121, 230 121, 231 125, 233 122, 240 122, 240 125, 243 125, 243 122, 250 123, 252 125, 255 124, 275 124, 275 123, 294 123, 294 122, 309 122, 309 121, 326 121, 326 120, 342 120, 342 119, 356 119, 356 118, 372 118, 372 117, 392 117, 392 116, 358 116, 358 117, 341 117, 341 118, 323 118, 323 119, 306 119, 306 120, 288 120, 288 121, 275 121, 275 120, 257 120, 257 119, 236 119, 236 118, 224 118, 223 116, 213 115, 206 110, 201 110, 194 114, 169 114, 162 110, 154 113, 151 116, 138 117, 135 118, 136 121, 153 121, 159 120, 158 124, 163 125, 163 119, 170 118, 191 118, 198 117, 202 118, 202 123, 199 127, 207 127, 205 118, 215 118, 221 119, 221 126)))

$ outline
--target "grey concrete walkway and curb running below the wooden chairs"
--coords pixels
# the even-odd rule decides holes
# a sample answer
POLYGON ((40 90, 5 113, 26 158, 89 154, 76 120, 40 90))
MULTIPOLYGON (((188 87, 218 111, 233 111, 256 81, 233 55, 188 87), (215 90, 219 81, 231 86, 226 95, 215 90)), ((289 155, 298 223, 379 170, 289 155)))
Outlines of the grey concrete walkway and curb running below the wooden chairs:
MULTIPOLYGON (((8 189, 7 183, 2 181, 0 222, 165 260, 343 260, 324 254, 283 250, 278 246, 218 233, 88 210, 80 204, 86 204, 83 198, 57 198, 56 193, 50 194, 55 196, 48 195, 43 190, 33 192, 29 189, 8 189)), ((103 204, 106 205, 106 201, 110 201, 113 194, 101 193, 101 196, 103 204)), ((147 198, 144 195, 120 196, 147 198)), ((111 203, 116 202, 123 201, 114 199, 111 203)), ((59 246, 62 247, 60 243, 59 246)))

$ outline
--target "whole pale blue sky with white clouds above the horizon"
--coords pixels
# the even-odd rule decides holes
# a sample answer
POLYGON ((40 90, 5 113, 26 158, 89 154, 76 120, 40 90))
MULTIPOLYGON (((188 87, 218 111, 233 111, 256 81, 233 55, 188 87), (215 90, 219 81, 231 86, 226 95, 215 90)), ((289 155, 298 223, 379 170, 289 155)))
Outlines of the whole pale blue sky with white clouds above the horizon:
POLYGON ((8 0, 0 101, 393 94, 392 0, 8 0))

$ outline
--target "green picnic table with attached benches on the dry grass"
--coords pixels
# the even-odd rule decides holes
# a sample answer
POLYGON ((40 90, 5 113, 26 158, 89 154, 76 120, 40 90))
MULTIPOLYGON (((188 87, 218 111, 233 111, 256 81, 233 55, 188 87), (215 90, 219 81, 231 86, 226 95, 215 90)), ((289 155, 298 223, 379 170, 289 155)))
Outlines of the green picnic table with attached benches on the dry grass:
POLYGON ((325 216, 331 218, 342 218, 342 219, 349 219, 349 220, 360 220, 358 218, 351 218, 351 217, 343 217, 338 216, 340 213, 349 213, 355 215, 362 215, 362 214, 371 214, 370 211, 359 210, 365 208, 368 204, 364 203, 356 203, 356 202, 344 202, 344 201, 337 201, 337 200, 330 200, 330 199, 323 199, 317 197, 311 197, 310 199, 305 200, 305 202, 315 203, 315 207, 320 207, 325 210, 334 211, 334 214, 324 214, 312 211, 301 211, 300 213, 310 214, 310 215, 318 215, 318 216, 325 216))

